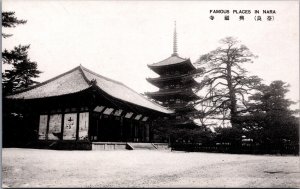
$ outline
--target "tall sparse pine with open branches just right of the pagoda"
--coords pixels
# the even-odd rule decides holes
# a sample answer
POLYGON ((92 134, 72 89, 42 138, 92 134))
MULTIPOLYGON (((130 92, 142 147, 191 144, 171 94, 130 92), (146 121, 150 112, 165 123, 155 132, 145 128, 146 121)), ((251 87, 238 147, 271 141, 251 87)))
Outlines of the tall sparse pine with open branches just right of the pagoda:
POLYGON ((203 108, 203 118, 222 115, 220 119, 230 120, 232 126, 237 126, 236 119, 246 106, 247 95, 261 79, 247 76, 243 68, 243 64, 252 63, 256 57, 245 45, 233 37, 224 38, 220 43, 220 47, 202 55, 196 64, 204 70, 198 86, 202 99, 197 103, 203 108))

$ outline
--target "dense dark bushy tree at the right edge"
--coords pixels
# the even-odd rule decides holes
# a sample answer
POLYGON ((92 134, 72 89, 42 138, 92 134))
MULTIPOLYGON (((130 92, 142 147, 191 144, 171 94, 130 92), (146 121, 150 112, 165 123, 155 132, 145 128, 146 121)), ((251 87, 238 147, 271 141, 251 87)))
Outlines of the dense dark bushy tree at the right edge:
POLYGON ((286 99, 288 88, 283 81, 273 81, 270 85, 262 85, 250 96, 249 114, 240 117, 239 124, 258 143, 298 143, 299 117, 295 115, 299 111, 289 108, 295 102, 286 99))

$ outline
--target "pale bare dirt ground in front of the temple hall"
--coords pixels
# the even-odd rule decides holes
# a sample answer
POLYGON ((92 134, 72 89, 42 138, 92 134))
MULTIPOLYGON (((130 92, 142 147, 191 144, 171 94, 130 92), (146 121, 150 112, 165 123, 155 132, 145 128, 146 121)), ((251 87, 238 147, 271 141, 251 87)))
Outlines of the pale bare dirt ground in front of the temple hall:
POLYGON ((300 187, 299 156, 2 150, 3 187, 300 187))

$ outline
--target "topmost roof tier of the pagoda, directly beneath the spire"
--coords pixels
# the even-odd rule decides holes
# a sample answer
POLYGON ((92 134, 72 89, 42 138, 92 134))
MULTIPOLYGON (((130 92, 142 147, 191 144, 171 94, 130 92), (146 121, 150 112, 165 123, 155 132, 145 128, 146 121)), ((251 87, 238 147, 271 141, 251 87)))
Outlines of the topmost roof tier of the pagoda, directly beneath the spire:
POLYGON ((178 70, 187 73, 196 69, 190 59, 184 59, 177 55, 172 55, 157 63, 148 64, 148 67, 159 75, 178 70))

